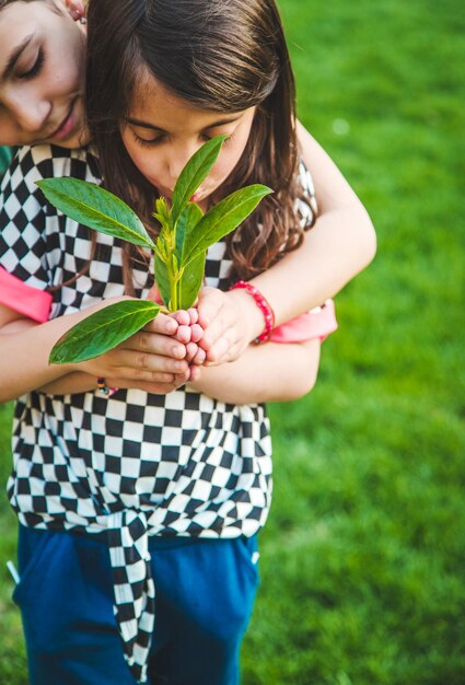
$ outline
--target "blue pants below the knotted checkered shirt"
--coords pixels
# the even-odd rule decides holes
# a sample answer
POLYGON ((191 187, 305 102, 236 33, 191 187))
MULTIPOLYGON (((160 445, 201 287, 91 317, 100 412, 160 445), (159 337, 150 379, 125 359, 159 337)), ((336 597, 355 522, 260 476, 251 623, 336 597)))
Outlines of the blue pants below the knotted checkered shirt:
MULTIPOLYGON (((258 584, 256 537, 150 538, 156 592, 151 685, 236 685, 258 584)), ((113 614, 107 546, 20 525, 31 685, 136 685, 113 614)))

